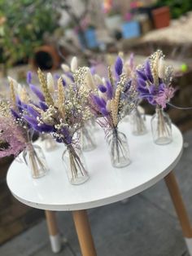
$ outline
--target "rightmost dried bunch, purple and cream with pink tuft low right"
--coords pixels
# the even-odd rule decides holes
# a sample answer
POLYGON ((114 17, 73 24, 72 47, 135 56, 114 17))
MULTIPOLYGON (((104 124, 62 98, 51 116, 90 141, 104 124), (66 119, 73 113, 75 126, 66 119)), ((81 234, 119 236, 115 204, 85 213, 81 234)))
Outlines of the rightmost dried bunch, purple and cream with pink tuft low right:
POLYGON ((146 60, 142 68, 136 69, 137 91, 141 99, 149 104, 166 108, 175 89, 171 86, 172 68, 164 64, 162 51, 156 51, 146 60))

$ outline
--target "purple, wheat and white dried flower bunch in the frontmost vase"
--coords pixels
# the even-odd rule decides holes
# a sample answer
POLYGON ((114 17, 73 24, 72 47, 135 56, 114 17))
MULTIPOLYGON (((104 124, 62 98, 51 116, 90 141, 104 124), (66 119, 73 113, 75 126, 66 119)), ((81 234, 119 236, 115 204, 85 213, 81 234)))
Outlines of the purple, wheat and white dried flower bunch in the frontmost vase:
MULTIPOLYGON (((75 83, 63 86, 63 78, 59 77, 57 90, 53 92, 54 100, 45 75, 40 69, 38 77, 42 91, 36 93, 37 104, 30 102, 25 108, 24 120, 33 130, 49 133, 59 143, 71 144, 73 135, 81 128, 86 118, 89 118, 88 108, 85 106, 86 91, 81 90, 81 86, 76 86, 75 83), (43 96, 43 100, 39 95, 43 96)), ((30 87, 33 90, 33 86, 30 87)))

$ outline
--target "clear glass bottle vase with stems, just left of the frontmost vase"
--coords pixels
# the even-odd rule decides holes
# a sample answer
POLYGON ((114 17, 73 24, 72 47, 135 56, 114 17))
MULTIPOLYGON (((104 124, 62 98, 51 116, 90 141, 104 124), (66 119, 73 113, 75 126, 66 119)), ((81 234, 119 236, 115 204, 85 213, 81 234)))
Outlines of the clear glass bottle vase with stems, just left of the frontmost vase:
POLYGON ((46 175, 49 169, 46 165, 46 157, 39 146, 28 142, 26 148, 24 148, 23 157, 24 162, 31 170, 33 179, 46 175))

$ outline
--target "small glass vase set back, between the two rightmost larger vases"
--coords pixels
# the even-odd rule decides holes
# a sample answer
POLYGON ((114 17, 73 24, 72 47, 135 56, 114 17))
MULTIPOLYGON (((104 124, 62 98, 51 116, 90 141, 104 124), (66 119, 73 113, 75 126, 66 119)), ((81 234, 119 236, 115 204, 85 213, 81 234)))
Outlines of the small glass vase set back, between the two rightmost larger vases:
POLYGON ((145 135, 147 132, 145 114, 141 114, 138 108, 135 108, 131 115, 131 126, 133 135, 145 135))

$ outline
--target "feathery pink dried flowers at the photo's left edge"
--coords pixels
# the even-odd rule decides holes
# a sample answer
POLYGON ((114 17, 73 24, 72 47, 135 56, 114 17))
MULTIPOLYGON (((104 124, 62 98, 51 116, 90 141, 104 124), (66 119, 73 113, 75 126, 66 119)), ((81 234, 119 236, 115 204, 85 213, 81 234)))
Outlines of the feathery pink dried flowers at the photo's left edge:
POLYGON ((14 121, 0 117, 0 158, 17 156, 25 147, 22 131, 14 121))

